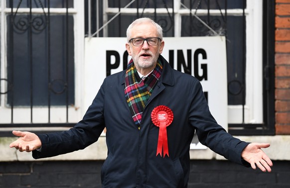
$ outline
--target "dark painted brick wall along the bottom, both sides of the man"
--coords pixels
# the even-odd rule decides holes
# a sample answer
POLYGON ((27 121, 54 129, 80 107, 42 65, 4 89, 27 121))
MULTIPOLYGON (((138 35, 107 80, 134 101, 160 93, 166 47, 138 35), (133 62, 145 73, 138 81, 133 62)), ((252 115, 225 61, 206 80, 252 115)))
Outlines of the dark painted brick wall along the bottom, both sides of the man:
MULTIPOLYGON (((290 188, 290 161, 263 173, 227 160, 192 160, 188 188, 290 188)), ((0 188, 101 188, 103 161, 0 163, 0 188)))

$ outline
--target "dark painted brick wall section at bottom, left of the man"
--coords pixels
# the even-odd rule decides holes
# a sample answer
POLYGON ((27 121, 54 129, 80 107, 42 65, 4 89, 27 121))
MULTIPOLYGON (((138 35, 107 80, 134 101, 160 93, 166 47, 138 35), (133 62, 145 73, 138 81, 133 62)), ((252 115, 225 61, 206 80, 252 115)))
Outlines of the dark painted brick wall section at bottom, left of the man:
POLYGON ((101 188, 103 161, 0 163, 0 188, 101 188))

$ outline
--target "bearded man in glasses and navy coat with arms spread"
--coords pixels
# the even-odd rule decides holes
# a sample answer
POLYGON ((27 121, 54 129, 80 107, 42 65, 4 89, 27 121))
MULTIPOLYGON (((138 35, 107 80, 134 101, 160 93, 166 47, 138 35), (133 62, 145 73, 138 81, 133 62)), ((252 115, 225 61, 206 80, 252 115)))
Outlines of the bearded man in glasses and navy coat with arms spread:
POLYGON ((108 157, 103 187, 186 188, 189 146, 199 141, 244 166, 271 172, 272 161, 261 150, 270 144, 246 143, 228 134, 212 117, 199 81, 173 70, 160 55, 162 28, 149 18, 127 30, 127 70, 104 80, 83 120, 68 131, 20 136, 10 144, 32 151, 35 159, 83 149, 106 127, 108 157))

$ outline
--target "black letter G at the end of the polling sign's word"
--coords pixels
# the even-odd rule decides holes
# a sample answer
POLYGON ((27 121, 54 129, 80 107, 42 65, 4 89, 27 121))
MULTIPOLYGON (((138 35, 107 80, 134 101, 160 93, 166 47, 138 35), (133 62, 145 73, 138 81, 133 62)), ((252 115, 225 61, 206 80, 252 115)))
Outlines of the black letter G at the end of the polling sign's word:
POLYGON ((199 48, 194 52, 194 77, 197 78, 199 81, 207 80, 207 64, 201 64, 201 69, 203 70, 202 75, 198 74, 198 55, 202 55, 202 59, 206 59, 206 52, 204 49, 199 48))

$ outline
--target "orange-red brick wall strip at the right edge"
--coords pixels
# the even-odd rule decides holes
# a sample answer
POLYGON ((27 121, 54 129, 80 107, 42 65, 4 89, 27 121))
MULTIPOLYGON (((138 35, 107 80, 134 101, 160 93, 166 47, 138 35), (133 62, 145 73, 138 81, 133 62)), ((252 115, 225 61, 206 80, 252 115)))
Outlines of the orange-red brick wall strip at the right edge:
POLYGON ((276 134, 290 135, 290 0, 276 0, 276 134))

